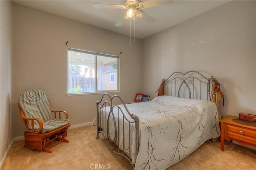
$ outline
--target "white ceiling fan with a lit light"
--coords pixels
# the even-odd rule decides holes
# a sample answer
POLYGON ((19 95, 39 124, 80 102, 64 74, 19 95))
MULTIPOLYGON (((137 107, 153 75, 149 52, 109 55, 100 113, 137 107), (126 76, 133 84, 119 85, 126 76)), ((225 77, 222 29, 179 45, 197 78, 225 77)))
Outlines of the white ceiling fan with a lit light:
POLYGON ((140 0, 127 0, 124 5, 115 5, 115 4, 96 4, 94 3, 94 8, 112 8, 112 9, 126 9, 126 14, 120 18, 115 24, 116 26, 122 26, 124 21, 128 18, 139 17, 144 20, 148 24, 152 24, 155 22, 153 18, 151 18, 148 14, 143 12, 140 9, 152 8, 160 5, 170 4, 172 0, 147 0, 141 2, 140 0))

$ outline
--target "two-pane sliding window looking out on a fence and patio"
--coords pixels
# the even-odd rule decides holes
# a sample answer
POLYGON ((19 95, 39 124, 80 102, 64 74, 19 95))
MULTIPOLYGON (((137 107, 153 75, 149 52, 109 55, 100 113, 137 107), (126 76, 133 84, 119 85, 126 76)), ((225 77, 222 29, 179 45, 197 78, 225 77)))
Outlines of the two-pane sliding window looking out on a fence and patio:
POLYGON ((68 94, 119 90, 119 55, 68 47, 68 94))

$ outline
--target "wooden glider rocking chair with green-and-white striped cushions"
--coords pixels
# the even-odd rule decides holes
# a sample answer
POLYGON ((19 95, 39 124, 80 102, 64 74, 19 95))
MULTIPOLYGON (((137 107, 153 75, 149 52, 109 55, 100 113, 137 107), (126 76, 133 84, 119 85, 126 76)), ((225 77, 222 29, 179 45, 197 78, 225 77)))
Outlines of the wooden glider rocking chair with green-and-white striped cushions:
POLYGON ((18 98, 18 108, 27 129, 24 132, 25 147, 52 153, 50 148, 55 145, 69 143, 64 139, 70 126, 68 113, 54 111, 45 92, 28 90, 22 93, 18 98), (65 119, 61 119, 61 115, 65 119))

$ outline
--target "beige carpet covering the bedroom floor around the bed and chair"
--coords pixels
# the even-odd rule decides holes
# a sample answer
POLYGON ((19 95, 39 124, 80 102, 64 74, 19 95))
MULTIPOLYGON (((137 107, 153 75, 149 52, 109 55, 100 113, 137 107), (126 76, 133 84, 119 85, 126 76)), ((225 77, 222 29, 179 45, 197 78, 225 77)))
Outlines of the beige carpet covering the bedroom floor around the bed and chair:
MULTIPOLYGON (((24 141, 14 142, 2 170, 132 170, 122 156, 113 153, 92 126, 68 130, 70 143, 60 143, 52 153, 24 147, 24 141), (100 167, 99 167, 100 165, 100 167)), ((204 143, 168 170, 256 170, 256 150, 228 144, 220 150, 220 142, 204 143)))

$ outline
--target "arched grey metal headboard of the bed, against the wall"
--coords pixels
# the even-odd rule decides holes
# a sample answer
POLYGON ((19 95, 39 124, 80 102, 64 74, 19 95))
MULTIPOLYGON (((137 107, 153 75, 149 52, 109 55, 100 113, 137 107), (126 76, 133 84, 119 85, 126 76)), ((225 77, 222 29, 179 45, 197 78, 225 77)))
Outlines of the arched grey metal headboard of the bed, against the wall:
POLYGON ((205 77, 198 71, 174 72, 164 80, 162 94, 179 98, 209 100, 210 84, 210 78, 205 77))

